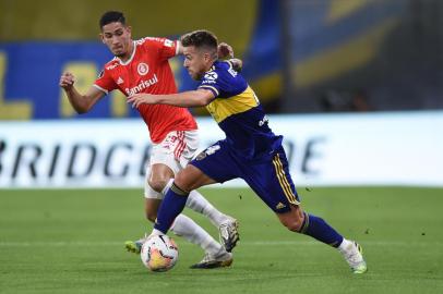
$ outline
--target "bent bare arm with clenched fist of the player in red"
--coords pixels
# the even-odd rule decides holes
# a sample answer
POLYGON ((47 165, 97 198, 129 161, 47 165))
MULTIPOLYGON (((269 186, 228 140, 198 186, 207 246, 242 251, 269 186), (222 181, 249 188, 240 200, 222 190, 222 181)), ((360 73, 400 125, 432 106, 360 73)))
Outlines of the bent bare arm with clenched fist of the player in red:
POLYGON ((75 77, 72 73, 63 73, 60 77, 60 87, 67 93, 68 99, 75 111, 86 113, 105 94, 96 87, 91 87, 85 95, 74 87, 75 77))

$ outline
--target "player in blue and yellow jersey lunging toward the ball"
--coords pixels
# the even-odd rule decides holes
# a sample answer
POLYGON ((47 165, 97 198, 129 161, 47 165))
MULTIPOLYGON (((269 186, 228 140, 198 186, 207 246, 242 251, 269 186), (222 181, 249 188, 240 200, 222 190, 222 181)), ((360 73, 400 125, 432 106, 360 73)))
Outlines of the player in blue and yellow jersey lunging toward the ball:
MULTIPOLYGON (((128 101, 134 107, 142 103, 206 106, 226 138, 206 148, 177 174, 161 203, 153 234, 167 233, 191 191, 241 177, 276 213, 282 224, 337 248, 355 273, 366 272, 361 247, 344 238, 322 218, 301 208, 282 147, 283 137, 272 132, 254 91, 234 70, 240 61, 217 60, 217 38, 207 30, 184 35, 181 44, 184 68, 200 81, 197 89, 171 95, 137 94, 128 101)), ((202 260, 195 266, 220 265, 202 260)))

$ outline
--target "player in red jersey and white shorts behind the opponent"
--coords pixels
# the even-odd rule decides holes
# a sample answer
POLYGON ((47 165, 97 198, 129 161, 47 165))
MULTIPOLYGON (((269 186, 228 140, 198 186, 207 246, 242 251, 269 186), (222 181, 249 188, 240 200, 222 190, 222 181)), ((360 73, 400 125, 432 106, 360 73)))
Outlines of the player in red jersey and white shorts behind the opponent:
MULTIPOLYGON (((99 99, 115 89, 125 96, 136 93, 177 93, 168 59, 182 53, 179 40, 153 37, 132 40, 131 27, 127 25, 123 13, 118 11, 105 13, 99 26, 101 41, 115 58, 105 64, 94 85, 82 95, 74 87, 72 73, 63 73, 60 77, 60 86, 79 113, 89 111, 99 99)), ((231 51, 227 45, 219 49, 222 56, 231 51)), ((153 142, 144 196, 146 218, 154 222, 164 197, 163 192, 167 189, 168 183, 171 184, 170 179, 195 155, 199 145, 197 125, 185 108, 145 105, 137 110, 153 142)), ((237 220, 217 210, 196 191, 191 193, 187 206, 206 216, 218 228, 224 246, 184 215, 177 217, 171 231, 204 249, 205 268, 229 266, 232 262, 230 252, 239 238, 237 220)), ((129 241, 125 247, 130 252, 140 253, 143 242, 144 238, 129 241)))

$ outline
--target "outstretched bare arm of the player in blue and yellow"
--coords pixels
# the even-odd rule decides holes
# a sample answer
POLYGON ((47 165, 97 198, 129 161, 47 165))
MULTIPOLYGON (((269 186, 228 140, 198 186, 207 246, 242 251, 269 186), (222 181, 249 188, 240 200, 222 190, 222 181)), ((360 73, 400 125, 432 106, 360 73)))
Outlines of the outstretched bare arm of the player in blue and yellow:
POLYGON ((169 95, 135 94, 128 98, 133 108, 141 105, 169 105, 177 107, 203 107, 211 103, 215 96, 208 89, 188 90, 169 95))

